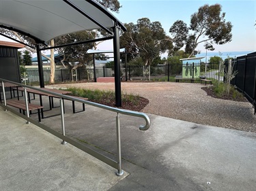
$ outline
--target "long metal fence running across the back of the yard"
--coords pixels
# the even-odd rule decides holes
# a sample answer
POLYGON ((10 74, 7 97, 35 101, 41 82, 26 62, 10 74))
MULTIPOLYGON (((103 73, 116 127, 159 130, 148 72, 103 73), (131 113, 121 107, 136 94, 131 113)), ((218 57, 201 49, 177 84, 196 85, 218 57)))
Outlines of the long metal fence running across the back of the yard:
MULTIPOLYGON (((182 63, 152 66, 127 66, 121 67, 122 80, 150 80, 153 82, 177 82, 182 79, 184 82, 193 79, 193 82, 200 82, 201 78, 223 81, 223 69, 219 72, 219 63, 182 63), (219 79, 218 79, 219 78, 219 79)), ((39 82, 38 69, 27 69, 27 77, 30 82, 39 82)), ((44 82, 50 81, 50 69, 44 69, 44 82)), ((111 68, 96 68, 96 77, 112 77, 114 71, 111 68)), ((55 82, 66 82, 71 80, 94 81, 94 69, 78 68, 56 69, 55 82)), ((181 81, 179 81, 181 82, 181 81)))

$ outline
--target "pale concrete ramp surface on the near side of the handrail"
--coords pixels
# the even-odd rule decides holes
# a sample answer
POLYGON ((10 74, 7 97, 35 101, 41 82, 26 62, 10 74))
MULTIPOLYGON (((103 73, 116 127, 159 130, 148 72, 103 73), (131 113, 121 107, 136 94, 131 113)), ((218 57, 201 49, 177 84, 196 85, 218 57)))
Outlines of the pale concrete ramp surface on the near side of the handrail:
POLYGON ((116 169, 0 107, 1 190, 109 190, 116 169))

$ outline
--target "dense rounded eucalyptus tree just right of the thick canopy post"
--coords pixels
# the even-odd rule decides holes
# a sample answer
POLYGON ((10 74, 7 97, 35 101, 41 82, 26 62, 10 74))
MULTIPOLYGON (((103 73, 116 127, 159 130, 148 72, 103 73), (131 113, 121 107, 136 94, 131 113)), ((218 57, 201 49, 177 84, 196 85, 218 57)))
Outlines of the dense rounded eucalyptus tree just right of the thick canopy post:
POLYGON ((144 65, 151 65, 155 58, 171 51, 173 44, 166 35, 160 22, 150 22, 149 18, 140 18, 137 24, 124 24, 127 31, 120 37, 120 45, 126 48, 128 60, 140 56, 144 65))

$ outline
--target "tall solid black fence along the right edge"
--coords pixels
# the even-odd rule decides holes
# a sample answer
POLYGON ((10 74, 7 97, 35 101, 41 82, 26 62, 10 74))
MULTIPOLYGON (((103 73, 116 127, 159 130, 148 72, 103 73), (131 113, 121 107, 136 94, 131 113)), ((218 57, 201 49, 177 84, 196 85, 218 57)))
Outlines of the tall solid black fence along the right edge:
POLYGON ((243 92, 254 107, 256 105, 256 52, 240 56, 236 59, 234 69, 238 71, 231 84, 243 92))

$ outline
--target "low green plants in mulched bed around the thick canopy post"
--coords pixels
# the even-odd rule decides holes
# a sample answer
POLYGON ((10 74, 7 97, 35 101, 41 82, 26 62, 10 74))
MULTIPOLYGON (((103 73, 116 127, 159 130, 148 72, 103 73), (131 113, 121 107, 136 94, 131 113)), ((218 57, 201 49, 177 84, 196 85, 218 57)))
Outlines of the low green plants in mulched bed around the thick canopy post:
MULTIPOLYGON (((67 88, 72 95, 77 97, 86 97, 89 101, 105 103, 115 103, 115 92, 113 90, 89 90, 83 88, 67 88)), ((134 105, 139 104, 139 95, 122 93, 122 101, 130 102, 134 105)))

